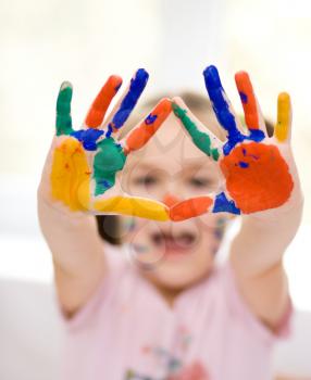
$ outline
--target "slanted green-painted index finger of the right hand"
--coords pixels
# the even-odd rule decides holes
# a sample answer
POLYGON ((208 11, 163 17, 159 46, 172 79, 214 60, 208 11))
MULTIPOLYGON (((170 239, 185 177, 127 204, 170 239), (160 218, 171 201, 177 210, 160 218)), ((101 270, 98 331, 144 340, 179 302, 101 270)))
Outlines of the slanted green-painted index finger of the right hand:
POLYGON ((174 114, 179 118, 196 147, 214 161, 217 161, 222 147, 221 140, 196 118, 181 98, 176 97, 173 99, 172 107, 174 114))

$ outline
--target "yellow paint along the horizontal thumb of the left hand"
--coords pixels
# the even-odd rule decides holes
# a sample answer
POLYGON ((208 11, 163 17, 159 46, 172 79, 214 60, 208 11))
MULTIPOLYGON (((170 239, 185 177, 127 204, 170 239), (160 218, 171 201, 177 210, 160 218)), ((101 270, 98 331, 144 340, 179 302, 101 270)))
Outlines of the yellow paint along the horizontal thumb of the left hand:
POLYGON ((138 216, 153 220, 169 220, 166 207, 156 201, 141 198, 113 197, 94 202, 94 210, 123 215, 138 216))

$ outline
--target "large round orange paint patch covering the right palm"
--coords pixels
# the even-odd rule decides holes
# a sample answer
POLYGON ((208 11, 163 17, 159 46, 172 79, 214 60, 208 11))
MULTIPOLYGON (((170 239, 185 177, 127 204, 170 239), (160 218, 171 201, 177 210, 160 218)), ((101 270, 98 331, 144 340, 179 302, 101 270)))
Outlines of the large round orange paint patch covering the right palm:
POLYGON ((244 214, 275 208, 289 199, 293 178, 275 145, 241 143, 220 164, 228 193, 244 214))

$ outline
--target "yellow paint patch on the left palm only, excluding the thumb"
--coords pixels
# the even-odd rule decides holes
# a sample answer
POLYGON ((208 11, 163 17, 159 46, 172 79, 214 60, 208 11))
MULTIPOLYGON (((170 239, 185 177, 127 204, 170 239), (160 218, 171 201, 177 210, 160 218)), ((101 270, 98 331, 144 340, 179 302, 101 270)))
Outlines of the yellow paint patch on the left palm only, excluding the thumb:
POLYGON ((78 140, 66 138, 54 150, 51 190, 52 197, 62 201, 72 211, 87 210, 89 204, 89 179, 90 169, 87 163, 86 153, 78 140), (84 187, 84 203, 78 200, 78 189, 84 187))

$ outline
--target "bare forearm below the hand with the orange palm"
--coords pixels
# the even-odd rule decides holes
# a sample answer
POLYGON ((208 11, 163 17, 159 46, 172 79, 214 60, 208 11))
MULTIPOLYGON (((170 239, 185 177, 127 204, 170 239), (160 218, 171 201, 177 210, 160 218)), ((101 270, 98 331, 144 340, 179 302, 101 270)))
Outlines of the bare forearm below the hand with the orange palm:
POLYGON ((301 214, 302 200, 277 219, 245 216, 232 243, 231 261, 239 292, 254 315, 272 330, 279 328, 288 308, 283 255, 297 232, 301 214))

